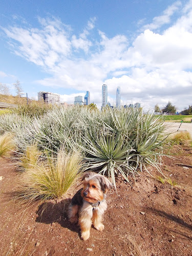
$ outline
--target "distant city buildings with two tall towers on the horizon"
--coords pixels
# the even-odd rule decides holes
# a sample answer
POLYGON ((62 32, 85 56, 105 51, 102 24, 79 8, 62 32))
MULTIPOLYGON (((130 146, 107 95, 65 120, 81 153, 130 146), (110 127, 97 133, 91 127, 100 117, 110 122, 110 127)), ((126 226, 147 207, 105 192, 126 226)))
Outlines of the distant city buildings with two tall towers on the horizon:
MULTIPOLYGON (((105 108, 105 106, 109 106, 110 108, 114 108, 113 105, 108 101, 108 86, 106 84, 102 85, 102 105, 101 110, 105 108)), ((90 104, 90 92, 87 91, 86 95, 83 96, 78 95, 74 98, 74 103, 67 103, 67 102, 60 102, 60 95, 57 93, 52 92, 38 92, 38 101, 43 100, 47 104, 59 104, 59 105, 65 105, 65 106, 73 106, 73 105, 89 105, 90 104)), ((94 103, 94 102, 93 102, 94 103)), ((141 108, 141 104, 139 102, 136 102, 135 104, 130 103, 129 105, 122 105, 121 104, 121 88, 120 86, 117 87, 116 92, 116 108, 121 108, 121 106, 124 106, 124 108, 141 108)))

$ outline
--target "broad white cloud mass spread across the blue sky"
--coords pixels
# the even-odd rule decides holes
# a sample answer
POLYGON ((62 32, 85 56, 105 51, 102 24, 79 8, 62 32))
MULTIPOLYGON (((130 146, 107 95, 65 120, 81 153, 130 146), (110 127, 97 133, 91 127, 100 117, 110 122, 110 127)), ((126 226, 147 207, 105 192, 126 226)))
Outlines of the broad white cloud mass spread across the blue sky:
MULTIPOLYGON (((170 100, 182 110, 192 97, 191 3, 182 7, 177 1, 169 6, 144 26, 147 29, 132 45, 123 34, 109 38, 96 30, 96 18, 78 35, 56 18, 38 18, 38 29, 15 26, 3 30, 17 55, 49 74, 49 78, 35 81, 42 86, 89 90, 91 102, 101 105, 101 85, 106 83, 112 104, 120 86, 124 103, 133 100, 152 108, 170 100), (171 23, 176 12, 179 17, 171 23), (164 24, 169 27, 161 33, 152 31, 164 24)), ((73 94, 62 98, 74 101, 73 94)))

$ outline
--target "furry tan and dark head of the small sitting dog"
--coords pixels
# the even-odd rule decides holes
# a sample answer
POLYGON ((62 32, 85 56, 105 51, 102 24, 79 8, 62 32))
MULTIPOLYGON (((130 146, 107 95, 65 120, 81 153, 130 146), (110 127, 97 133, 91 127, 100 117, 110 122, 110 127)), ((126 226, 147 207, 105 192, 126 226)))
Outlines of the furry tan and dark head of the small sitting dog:
POLYGON ((102 201, 112 183, 103 175, 89 172, 82 177, 83 189, 81 196, 89 203, 102 201))

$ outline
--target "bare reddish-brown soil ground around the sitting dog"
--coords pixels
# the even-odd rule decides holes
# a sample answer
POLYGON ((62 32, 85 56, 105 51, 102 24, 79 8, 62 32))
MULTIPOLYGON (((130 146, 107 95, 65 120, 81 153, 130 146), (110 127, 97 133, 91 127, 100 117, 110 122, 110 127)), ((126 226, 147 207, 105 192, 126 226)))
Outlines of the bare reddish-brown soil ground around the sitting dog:
POLYGON ((10 200, 19 173, 13 160, 3 159, 0 255, 192 255, 190 165, 192 149, 185 147, 177 159, 164 157, 162 166, 178 186, 162 184, 145 172, 133 186, 118 180, 117 193, 112 189, 107 198, 104 230, 91 228, 90 239, 82 241, 79 227, 67 219, 70 199, 49 202, 43 212, 42 204, 24 207, 10 200))

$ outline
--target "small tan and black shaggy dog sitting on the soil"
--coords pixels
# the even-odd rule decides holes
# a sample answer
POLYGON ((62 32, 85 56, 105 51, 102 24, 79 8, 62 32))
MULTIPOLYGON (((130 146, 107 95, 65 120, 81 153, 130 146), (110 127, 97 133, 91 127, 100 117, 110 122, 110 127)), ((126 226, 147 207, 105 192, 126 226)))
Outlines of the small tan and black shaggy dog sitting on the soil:
POLYGON ((77 191, 71 200, 68 209, 68 218, 71 223, 77 223, 81 229, 81 239, 88 240, 90 229, 93 226, 102 231, 102 215, 107 208, 105 201, 108 189, 112 183, 103 175, 88 172, 82 177, 83 187, 77 191))

